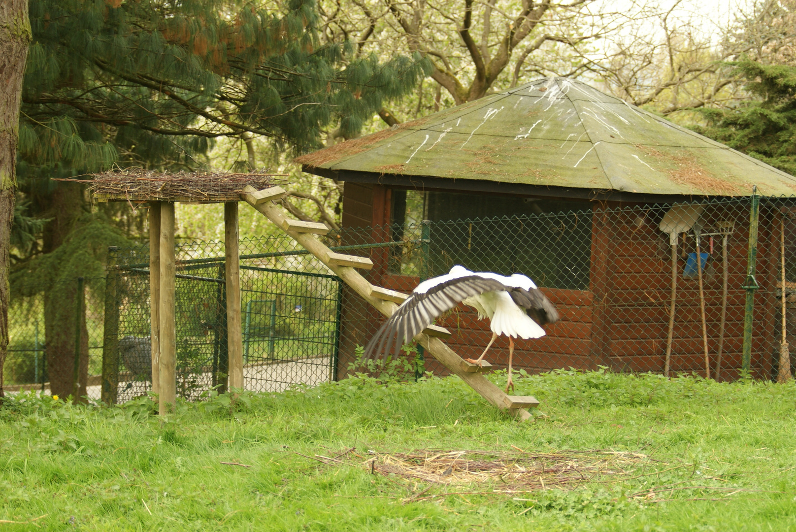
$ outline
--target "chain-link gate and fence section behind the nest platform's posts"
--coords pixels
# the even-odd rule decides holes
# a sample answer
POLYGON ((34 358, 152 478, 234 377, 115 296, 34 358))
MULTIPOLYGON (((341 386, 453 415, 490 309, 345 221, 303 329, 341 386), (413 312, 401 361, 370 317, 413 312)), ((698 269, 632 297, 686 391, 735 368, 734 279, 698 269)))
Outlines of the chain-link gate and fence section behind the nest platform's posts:
MULTIPOLYGON (((340 281, 288 237, 240 243, 244 387, 279 391, 336 374, 340 281)), ((151 388, 149 254, 111 252, 118 315, 118 400, 151 388)), ((178 396, 226 389, 224 244, 178 246, 175 288, 178 396)))

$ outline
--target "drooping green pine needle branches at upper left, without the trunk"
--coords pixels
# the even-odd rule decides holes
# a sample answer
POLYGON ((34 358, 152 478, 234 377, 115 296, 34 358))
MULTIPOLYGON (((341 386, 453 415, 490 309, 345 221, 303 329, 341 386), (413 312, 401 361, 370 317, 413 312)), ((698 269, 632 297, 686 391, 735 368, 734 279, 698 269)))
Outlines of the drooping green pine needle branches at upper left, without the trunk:
MULTIPOLYGON (((347 42, 321 45, 312 0, 259 9, 213 0, 178 7, 124 2, 116 9, 37 0, 30 11, 29 121, 71 117, 138 131, 115 139, 126 141, 123 150, 151 134, 212 139, 244 131, 296 151, 312 149, 333 123, 355 135, 384 100, 411 91, 428 68, 417 55, 380 63, 375 56, 354 59, 347 42)), ((75 160, 80 148, 64 143, 75 160)), ((54 160, 45 151, 26 153, 54 160)))

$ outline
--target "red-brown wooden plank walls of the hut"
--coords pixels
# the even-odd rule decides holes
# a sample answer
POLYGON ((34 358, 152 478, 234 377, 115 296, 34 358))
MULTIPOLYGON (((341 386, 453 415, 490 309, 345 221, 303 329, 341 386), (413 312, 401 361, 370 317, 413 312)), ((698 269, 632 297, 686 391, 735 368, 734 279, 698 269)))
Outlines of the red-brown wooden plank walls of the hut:
MULTIPOLYGON (((347 182, 343 198, 345 228, 377 227, 390 220, 390 190, 384 186, 347 182)), ((529 372, 573 367, 594 370, 607 366, 618 371, 661 372, 664 367, 671 261, 668 236, 657 227, 662 212, 655 209, 619 209, 619 204, 595 204, 591 238, 589 290, 543 288, 561 312, 559 323, 548 327, 538 340, 518 340, 514 366, 529 372), (656 217, 657 216, 657 217, 656 217)), ((638 205, 637 205, 638 207, 638 205)), ((729 237, 729 292, 724 334, 723 378, 737 377, 743 344, 748 205, 712 206, 704 213, 706 226, 716 221, 735 221, 729 237)), ((763 210, 760 217, 758 276, 761 289, 755 299, 752 367, 755 377, 771 372, 776 341, 776 302, 771 297, 778 272, 778 214, 763 210)), ((361 233, 357 233, 361 234, 361 233)), ((377 237, 377 235, 373 235, 377 237)), ((341 242, 355 244, 361 242, 341 242)), ((700 323, 700 299, 696 278, 685 279, 683 252, 694 252, 693 237, 678 248, 677 312, 673 341, 672 370, 704 373, 700 323)), ((715 367, 719 343, 721 309, 721 237, 714 237, 710 265, 704 276, 708 350, 715 367)), ((709 240, 704 243, 703 252, 709 240)), ((419 279, 387 272, 387 252, 363 250, 375 266, 366 277, 373 284, 392 290, 412 291, 419 279)), ((348 373, 354 349, 365 345, 383 319, 347 288, 343 292, 338 377, 348 373)), ((458 307, 443 322, 453 333, 447 343, 462 357, 478 357, 490 340, 489 325, 479 321, 470 307, 458 307)), ((503 367, 508 362, 508 342, 497 340, 490 362, 503 367)), ((446 374, 439 363, 427 361, 427 370, 446 374)))

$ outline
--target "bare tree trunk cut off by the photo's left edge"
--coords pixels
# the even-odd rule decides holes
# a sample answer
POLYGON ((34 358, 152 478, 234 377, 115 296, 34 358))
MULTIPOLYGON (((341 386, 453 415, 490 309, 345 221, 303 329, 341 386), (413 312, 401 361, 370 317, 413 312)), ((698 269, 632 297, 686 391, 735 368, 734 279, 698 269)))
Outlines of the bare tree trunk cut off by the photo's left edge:
POLYGON ((8 350, 8 284, 11 221, 14 219, 19 104, 30 44, 28 0, 0 2, 0 398, 8 350))

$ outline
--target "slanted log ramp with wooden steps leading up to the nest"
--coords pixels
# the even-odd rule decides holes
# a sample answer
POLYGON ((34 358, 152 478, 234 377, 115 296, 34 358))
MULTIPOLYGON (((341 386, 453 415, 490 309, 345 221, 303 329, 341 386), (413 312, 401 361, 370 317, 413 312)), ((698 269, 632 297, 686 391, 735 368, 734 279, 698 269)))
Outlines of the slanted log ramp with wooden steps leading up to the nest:
MULTIPOLYGON (((283 229, 298 244, 302 244, 323 264, 326 264, 327 268, 337 274, 345 284, 353 288, 377 311, 387 317, 391 316, 398 308, 396 303, 400 303, 407 296, 400 292, 374 287, 365 277, 361 276, 357 272, 357 268, 373 268, 373 263, 369 259, 361 256, 341 255, 326 247, 326 244, 314 236, 315 234, 326 234, 324 228, 321 227, 322 224, 307 224, 287 218, 282 209, 279 209, 272 201, 281 198, 284 194, 285 191, 279 186, 272 186, 264 190, 256 190, 252 186, 247 186, 241 197, 259 213, 274 222, 277 227, 283 229)), ((527 409, 537 407, 539 401, 534 397, 518 397, 504 393, 482 375, 482 371, 488 370, 491 366, 484 364, 484 367, 481 368, 466 362, 440 339, 450 336, 451 333, 443 327, 432 325, 414 339, 423 346, 428 354, 447 367, 452 374, 458 375, 491 405, 497 406, 499 409, 507 409, 523 420, 533 417, 527 409)))

